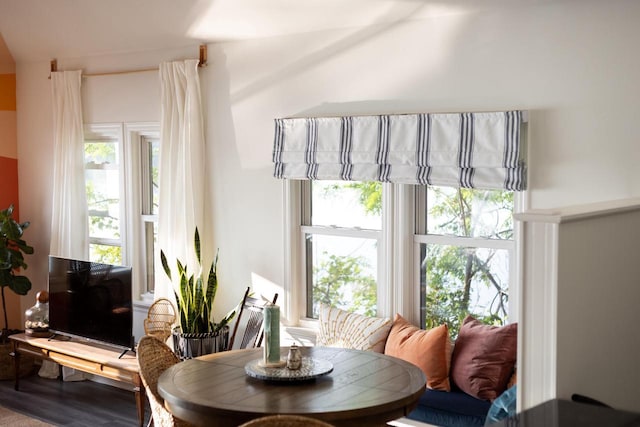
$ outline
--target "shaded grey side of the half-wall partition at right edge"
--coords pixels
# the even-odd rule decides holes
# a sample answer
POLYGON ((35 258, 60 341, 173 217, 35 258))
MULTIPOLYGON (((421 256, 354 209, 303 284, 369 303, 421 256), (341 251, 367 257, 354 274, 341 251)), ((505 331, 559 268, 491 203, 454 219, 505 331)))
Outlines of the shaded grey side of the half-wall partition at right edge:
POLYGON ((558 240, 558 395, 640 411, 640 208, 561 224, 558 240))

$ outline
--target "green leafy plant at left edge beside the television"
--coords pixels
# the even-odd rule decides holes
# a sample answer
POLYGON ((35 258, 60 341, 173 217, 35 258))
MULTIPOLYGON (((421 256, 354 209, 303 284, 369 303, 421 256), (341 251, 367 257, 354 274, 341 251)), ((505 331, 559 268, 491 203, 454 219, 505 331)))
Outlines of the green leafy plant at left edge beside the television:
POLYGON ((31 281, 20 274, 27 268, 24 255, 33 254, 33 247, 22 240, 24 230, 29 222, 18 223, 13 219, 13 205, 0 211, 0 293, 2 294, 2 311, 4 313, 4 327, 0 334, 0 342, 6 343, 8 336, 17 330, 9 330, 7 319, 7 305, 4 298, 5 288, 9 287, 18 295, 26 295, 31 289, 31 281))

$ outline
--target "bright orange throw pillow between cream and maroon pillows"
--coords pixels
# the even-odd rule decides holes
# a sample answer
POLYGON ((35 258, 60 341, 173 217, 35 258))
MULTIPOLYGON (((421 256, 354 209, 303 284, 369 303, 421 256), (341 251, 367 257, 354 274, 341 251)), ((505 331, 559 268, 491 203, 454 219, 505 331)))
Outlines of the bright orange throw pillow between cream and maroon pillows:
POLYGON ((396 314, 384 354, 413 363, 422 369, 427 376, 427 388, 451 390, 451 340, 447 325, 423 330, 396 314))

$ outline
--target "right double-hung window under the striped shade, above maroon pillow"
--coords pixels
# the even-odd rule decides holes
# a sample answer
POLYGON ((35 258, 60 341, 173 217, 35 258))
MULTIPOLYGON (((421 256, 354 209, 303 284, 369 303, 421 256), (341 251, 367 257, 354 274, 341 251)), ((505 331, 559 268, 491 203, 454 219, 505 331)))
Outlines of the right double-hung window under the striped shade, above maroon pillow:
POLYGON ((446 323, 456 336, 467 314, 506 323, 515 277, 513 193, 417 187, 416 199, 421 326, 446 323))

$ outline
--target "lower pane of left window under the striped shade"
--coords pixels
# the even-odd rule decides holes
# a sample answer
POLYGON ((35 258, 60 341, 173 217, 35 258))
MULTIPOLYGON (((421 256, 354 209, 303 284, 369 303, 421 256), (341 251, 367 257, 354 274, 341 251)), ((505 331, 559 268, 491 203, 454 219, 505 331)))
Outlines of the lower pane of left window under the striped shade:
POLYGON ((319 304, 376 315, 377 240, 307 234, 307 316, 319 304))

